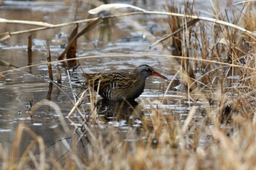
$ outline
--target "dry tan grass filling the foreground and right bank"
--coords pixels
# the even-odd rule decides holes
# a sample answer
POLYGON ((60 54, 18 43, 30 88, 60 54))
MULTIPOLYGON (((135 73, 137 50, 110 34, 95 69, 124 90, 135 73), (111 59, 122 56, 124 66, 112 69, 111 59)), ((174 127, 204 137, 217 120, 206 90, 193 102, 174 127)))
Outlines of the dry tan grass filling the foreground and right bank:
MULTIPOLYGON (((242 11, 233 9, 231 19, 213 4, 214 16, 255 31, 253 3, 246 2, 242 11)), ((178 11, 171 5, 166 8, 178 11)), ((186 14, 192 15, 193 10, 186 9, 186 14)), ((186 22, 170 17, 170 29, 175 31, 186 22)), ((41 136, 20 124, 11 150, 6 152, 0 144, 1 169, 256 169, 256 38, 235 28, 201 21, 193 28, 184 28, 173 39, 170 47, 182 56, 177 57, 178 74, 192 101, 185 120, 171 114, 171 109, 166 114, 161 107, 152 107, 149 115, 139 115, 141 127, 129 127, 124 134, 97 116, 97 98, 87 89, 82 96, 89 94, 90 112, 80 110, 81 97, 69 116, 77 109, 89 118, 80 120, 80 126, 72 131, 60 117, 65 132, 72 136, 68 152, 61 152, 63 146, 59 143, 47 148, 41 136), (200 77, 197 70, 201 70, 200 77), (228 79, 235 75, 240 79, 228 79), (200 115, 203 117, 197 119, 200 115), (24 152, 19 152, 24 133, 33 140, 24 152)), ((146 100, 141 102, 148 104, 146 100)), ((54 103, 41 101, 37 105, 40 104, 59 112, 54 103)), ((149 104, 161 106, 162 102, 149 104)), ((133 112, 132 117, 138 117, 137 113, 133 112)))

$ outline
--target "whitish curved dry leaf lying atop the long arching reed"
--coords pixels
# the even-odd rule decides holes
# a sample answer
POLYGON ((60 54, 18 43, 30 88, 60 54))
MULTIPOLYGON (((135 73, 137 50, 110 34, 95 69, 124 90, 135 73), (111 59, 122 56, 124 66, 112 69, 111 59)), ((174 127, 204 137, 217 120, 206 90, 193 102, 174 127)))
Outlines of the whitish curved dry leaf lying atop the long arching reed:
POLYGON ((97 8, 91 9, 89 10, 89 14, 98 14, 99 12, 105 12, 105 11, 111 11, 113 9, 119 9, 119 8, 132 8, 132 9, 136 9, 142 12, 145 12, 145 9, 141 9, 139 7, 135 7, 133 5, 130 4, 102 4, 97 8))

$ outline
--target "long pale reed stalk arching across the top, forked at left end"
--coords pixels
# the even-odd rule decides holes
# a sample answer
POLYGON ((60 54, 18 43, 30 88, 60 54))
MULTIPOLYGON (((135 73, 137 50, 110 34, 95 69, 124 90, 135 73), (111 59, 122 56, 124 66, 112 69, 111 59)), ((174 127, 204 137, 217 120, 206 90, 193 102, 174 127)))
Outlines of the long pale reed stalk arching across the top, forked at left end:
MULTIPOLYGON (((220 24, 223 26, 228 26, 228 27, 232 27, 235 28, 239 31, 244 32, 245 34, 248 34, 249 36, 252 37, 256 37, 256 33, 253 31, 249 31, 246 30, 245 28, 242 28, 240 26, 236 26, 233 23, 227 23, 223 20, 217 20, 214 18, 206 18, 206 17, 198 17, 195 15, 184 15, 184 14, 178 14, 178 13, 173 13, 173 12, 157 12, 157 11, 145 11, 145 12, 129 12, 129 13, 124 13, 124 14, 120 14, 120 15, 108 15, 108 16, 104 16, 102 18, 118 18, 118 17, 125 17, 125 16, 129 16, 129 15, 171 15, 171 16, 177 16, 177 17, 181 17, 181 18, 191 18, 191 19, 198 19, 198 20, 204 20, 207 22, 211 22, 211 23, 216 23, 216 24, 220 24)), ((43 25, 43 27, 39 27, 39 28, 32 28, 29 30, 23 30, 23 31, 14 31, 14 32, 4 32, 2 34, 0 34, 0 41, 3 41, 4 39, 9 39, 12 35, 17 35, 17 34, 24 34, 24 33, 29 33, 29 32, 34 32, 34 31, 41 31, 41 30, 45 30, 45 29, 49 29, 49 28, 59 28, 62 26, 69 26, 72 24, 76 24, 76 23, 88 23, 90 21, 95 21, 98 20, 100 18, 91 18, 91 19, 86 19, 86 20, 76 20, 74 22, 70 22, 70 23, 61 23, 61 24, 50 24, 50 23, 45 23, 45 25, 43 25)), ((31 24, 31 21, 28 20, 19 20, 19 23, 23 23, 23 24, 29 24, 29 25, 35 25, 34 23, 31 24)), ((0 23, 18 23, 17 20, 6 20, 4 18, 0 18, 0 23)), ((37 26, 42 26, 42 24, 40 23, 37 26)))

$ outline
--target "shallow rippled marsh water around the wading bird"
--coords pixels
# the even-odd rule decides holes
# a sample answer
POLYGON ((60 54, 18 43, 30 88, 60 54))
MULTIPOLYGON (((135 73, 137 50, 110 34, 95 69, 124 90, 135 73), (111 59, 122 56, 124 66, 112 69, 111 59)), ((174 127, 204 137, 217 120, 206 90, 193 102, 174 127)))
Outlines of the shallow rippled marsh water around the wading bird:
MULTIPOLYGON (((126 3, 130 4, 131 2, 127 1, 126 3)), ((198 1, 197 8, 204 9, 205 7, 211 7, 209 3, 210 2, 206 4, 204 1, 198 1)), ((157 9, 162 9, 162 5, 164 4, 165 1, 159 1, 155 4, 149 2, 148 4, 143 4, 142 1, 139 1, 136 5, 139 7, 141 5, 141 7, 145 9, 156 9, 156 7, 157 9)), ((80 4, 69 4, 69 2, 59 1, 4 1, 0 9, 1 18, 38 20, 48 23, 66 23, 71 20, 86 18, 90 5, 83 4, 82 2, 80 2, 80 4)), ((143 23, 143 27, 148 30, 150 30, 150 28, 156 28, 154 27, 155 23, 153 21, 148 22, 148 18, 144 18, 143 15, 133 17, 136 20, 140 20, 141 23, 143 23)), ((154 16, 151 16, 151 18, 154 19, 154 16)), ((86 24, 81 24, 80 28, 84 26, 86 26, 86 24)), ((59 54, 64 50, 63 45, 67 43, 67 36, 72 31, 73 27, 74 26, 67 26, 48 29, 31 34, 33 39, 32 63, 45 63, 47 58, 45 39, 50 39, 52 61, 57 60, 59 54)), ((26 30, 28 28, 34 27, 1 23, 1 33, 5 31, 26 30)), ((163 30, 157 27, 157 31, 161 32, 163 30)), ((12 36, 4 42, 0 42, 0 59, 11 63, 13 66, 27 66, 29 63, 27 52, 28 36, 29 34, 20 34, 12 36)), ((88 35, 78 39, 77 57, 105 54, 161 54, 162 51, 158 48, 149 50, 148 47, 151 45, 151 40, 152 39, 143 38, 143 33, 131 28, 129 23, 124 22, 124 20, 110 20, 108 23, 103 23, 95 28, 94 31, 91 31, 88 35)), ((181 122, 189 112, 189 101, 187 99, 186 90, 183 88, 173 90, 174 87, 181 83, 178 80, 179 77, 173 77, 179 68, 175 63, 171 63, 168 58, 156 58, 154 56, 140 57, 135 55, 133 57, 88 58, 79 60, 79 63, 80 67, 76 69, 75 72, 71 70, 69 72, 69 74, 71 74, 71 80, 69 80, 69 76, 67 76, 67 69, 60 66, 63 86, 60 90, 59 87, 53 85, 50 100, 58 104, 64 117, 67 116, 73 107, 71 102, 71 100, 74 100, 72 90, 80 90, 83 85, 83 77, 80 75, 81 72, 130 70, 140 64, 152 66, 157 72, 165 75, 169 80, 175 79, 170 90, 167 90, 164 103, 158 105, 154 102, 153 104, 145 104, 142 101, 162 101, 168 82, 158 77, 148 78, 144 93, 136 100, 138 101, 140 112, 147 115, 151 114, 152 108, 162 107, 165 114, 173 114, 177 115, 177 117, 181 117, 181 122), (69 88, 70 85, 72 85, 72 89, 69 88)), ((53 64, 54 74, 56 74, 55 66, 56 64, 53 64)), ((0 66, 0 72, 6 70, 8 70, 7 67, 0 66)), ((59 115, 53 108, 49 109, 45 106, 40 107, 37 112, 32 115, 32 118, 28 114, 30 109, 29 103, 34 105, 38 101, 42 101, 42 99, 47 98, 48 93, 49 80, 48 66, 46 65, 33 66, 31 69, 10 72, 6 77, 0 79, 1 144, 10 147, 13 142, 15 129, 18 123, 21 122, 29 126, 37 135, 42 136, 47 145, 69 136, 69 134, 64 133, 59 115)), ((86 97, 83 101, 83 107, 90 110, 90 105, 89 97, 86 97)), ((121 131, 125 131, 127 127, 140 127, 141 122, 139 119, 132 120, 132 123, 129 122, 130 117, 128 117, 128 119, 124 117, 118 119, 119 117, 116 117, 115 112, 111 110, 113 109, 112 107, 108 108, 108 112, 110 112, 109 116, 103 113, 100 114, 100 116, 105 117, 107 124, 113 125, 114 127, 117 126, 121 128, 121 131)), ((129 108, 129 106, 127 106, 127 108, 129 108)), ((127 108, 125 107, 124 110, 129 111, 127 108)), ((88 112, 86 114, 88 114, 88 112)), ((200 119, 200 117, 200 112, 198 112, 198 115, 195 115, 195 119, 200 119)), ((72 127, 72 122, 68 119, 65 120, 67 125, 72 127)), ((78 113, 72 115, 71 120, 74 123, 79 123, 78 113)), ((24 138, 24 141, 26 140, 31 139, 24 138)))

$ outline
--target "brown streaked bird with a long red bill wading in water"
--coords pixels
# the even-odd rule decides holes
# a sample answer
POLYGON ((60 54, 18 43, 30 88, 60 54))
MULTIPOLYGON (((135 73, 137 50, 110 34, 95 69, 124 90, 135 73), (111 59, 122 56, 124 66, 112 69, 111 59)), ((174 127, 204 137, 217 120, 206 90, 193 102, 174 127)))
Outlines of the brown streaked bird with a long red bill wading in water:
POLYGON ((131 72, 83 73, 85 82, 95 91, 99 89, 99 96, 110 101, 134 101, 145 88, 146 78, 157 76, 167 80, 167 77, 155 72, 151 66, 140 65, 131 72))

